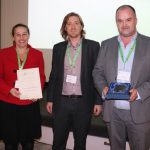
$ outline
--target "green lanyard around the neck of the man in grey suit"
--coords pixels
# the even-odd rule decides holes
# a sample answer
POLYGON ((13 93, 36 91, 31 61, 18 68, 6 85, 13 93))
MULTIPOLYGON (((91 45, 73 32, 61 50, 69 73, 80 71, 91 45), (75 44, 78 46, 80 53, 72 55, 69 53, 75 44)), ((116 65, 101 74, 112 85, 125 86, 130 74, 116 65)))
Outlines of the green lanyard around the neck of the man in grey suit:
POLYGON ((126 62, 129 60, 134 48, 135 48, 135 45, 136 45, 136 40, 134 40, 134 43, 132 45, 132 47, 130 48, 129 52, 128 52, 128 55, 126 57, 126 59, 124 58, 124 55, 123 55, 123 50, 122 50, 122 47, 121 47, 121 44, 119 43, 119 52, 120 52, 120 55, 121 55, 121 59, 122 59, 122 62, 124 64, 126 64, 126 62))

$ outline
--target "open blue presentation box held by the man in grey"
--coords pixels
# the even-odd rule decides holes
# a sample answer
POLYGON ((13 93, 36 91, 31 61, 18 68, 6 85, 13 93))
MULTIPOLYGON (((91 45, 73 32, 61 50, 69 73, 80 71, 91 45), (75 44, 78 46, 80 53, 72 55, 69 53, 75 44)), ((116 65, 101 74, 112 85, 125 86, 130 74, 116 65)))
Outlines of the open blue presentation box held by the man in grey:
POLYGON ((130 83, 112 82, 106 94, 106 100, 129 100, 130 99, 130 83))

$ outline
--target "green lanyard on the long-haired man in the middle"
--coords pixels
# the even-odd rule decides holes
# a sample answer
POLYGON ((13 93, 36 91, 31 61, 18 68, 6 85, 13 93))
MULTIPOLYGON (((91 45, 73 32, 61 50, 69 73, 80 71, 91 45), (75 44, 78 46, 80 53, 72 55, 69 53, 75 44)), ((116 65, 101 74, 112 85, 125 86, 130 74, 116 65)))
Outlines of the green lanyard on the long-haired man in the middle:
POLYGON ((68 56, 68 60, 69 60, 69 64, 70 64, 70 67, 73 68, 75 67, 75 64, 76 64, 76 61, 77 61, 77 58, 79 56, 79 53, 81 51, 81 44, 80 46, 78 46, 78 49, 73 57, 73 60, 71 59, 71 54, 70 54, 70 50, 71 48, 69 48, 69 46, 67 47, 67 56, 68 56))

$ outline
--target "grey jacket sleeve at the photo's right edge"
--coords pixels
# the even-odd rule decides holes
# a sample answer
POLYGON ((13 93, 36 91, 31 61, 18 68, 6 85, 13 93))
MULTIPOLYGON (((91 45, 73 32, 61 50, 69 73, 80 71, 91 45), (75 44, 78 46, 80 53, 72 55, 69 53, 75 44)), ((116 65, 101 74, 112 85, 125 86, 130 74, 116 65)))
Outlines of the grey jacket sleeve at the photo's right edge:
POLYGON ((136 50, 132 71, 133 80, 136 78, 136 81, 133 83, 141 97, 141 102, 144 102, 150 98, 150 37, 138 34, 136 50))

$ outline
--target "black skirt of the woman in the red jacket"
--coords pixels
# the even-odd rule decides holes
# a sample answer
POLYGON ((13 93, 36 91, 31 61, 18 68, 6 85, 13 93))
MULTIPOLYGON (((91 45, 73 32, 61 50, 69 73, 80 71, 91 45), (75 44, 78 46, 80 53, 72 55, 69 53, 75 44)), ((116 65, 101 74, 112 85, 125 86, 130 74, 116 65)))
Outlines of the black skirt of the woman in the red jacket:
POLYGON ((14 105, 0 100, 0 138, 7 143, 30 142, 41 137, 39 102, 14 105))

